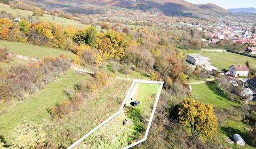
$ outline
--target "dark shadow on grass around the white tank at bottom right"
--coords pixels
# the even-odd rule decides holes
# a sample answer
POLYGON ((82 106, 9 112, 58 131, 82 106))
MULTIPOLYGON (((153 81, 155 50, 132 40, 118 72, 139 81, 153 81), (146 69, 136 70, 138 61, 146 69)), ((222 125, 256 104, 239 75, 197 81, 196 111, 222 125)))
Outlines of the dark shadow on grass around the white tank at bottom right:
POLYGON ((232 127, 228 127, 228 126, 224 126, 220 128, 222 133, 226 134, 227 136, 233 136, 234 134, 239 134, 245 141, 246 144, 248 145, 252 145, 251 144, 251 137, 249 135, 249 133, 245 131, 241 131, 239 129, 236 128, 232 128, 232 127))

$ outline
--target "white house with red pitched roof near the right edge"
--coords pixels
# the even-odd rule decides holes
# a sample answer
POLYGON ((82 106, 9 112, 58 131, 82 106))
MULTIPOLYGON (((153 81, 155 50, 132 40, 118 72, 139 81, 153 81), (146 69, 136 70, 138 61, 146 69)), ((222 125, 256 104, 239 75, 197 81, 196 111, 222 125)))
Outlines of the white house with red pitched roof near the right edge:
POLYGON ((234 64, 229 67, 228 71, 234 77, 244 76, 248 77, 249 69, 247 68, 246 64, 234 64))

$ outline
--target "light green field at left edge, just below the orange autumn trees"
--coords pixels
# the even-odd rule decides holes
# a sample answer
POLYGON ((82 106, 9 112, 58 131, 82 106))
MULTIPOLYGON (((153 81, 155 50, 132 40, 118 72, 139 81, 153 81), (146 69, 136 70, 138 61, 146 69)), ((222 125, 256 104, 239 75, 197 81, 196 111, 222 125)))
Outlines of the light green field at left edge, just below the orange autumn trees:
POLYGON ((50 48, 35 46, 27 43, 15 43, 0 40, 0 46, 8 47, 8 51, 13 54, 25 55, 28 57, 34 57, 37 59, 42 59, 45 56, 59 56, 61 54, 67 55, 70 59, 73 57, 73 53, 70 51, 65 51, 63 49, 50 48))

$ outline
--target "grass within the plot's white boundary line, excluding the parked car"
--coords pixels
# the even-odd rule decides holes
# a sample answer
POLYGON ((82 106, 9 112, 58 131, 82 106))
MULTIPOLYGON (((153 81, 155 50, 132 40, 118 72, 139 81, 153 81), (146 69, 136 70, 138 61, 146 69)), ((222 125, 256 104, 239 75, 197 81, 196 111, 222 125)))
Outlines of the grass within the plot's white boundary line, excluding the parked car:
POLYGON ((95 131, 75 148, 123 148, 142 139, 158 89, 159 85, 157 84, 135 84, 130 97, 139 100, 139 106, 131 106, 129 97, 121 114, 95 131), (124 125, 125 120, 129 120, 130 123, 124 125))

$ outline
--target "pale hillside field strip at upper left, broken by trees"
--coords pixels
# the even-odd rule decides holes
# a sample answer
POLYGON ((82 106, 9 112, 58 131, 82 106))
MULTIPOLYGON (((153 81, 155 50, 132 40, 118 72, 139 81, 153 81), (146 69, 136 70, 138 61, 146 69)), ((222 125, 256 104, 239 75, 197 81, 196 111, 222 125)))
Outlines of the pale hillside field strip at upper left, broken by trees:
MULTIPOLYGON (((26 11, 26 10, 12 9, 10 7, 10 5, 6 5, 6 4, 2 4, 2 3, 0 3, 0 10, 11 13, 14 17, 17 16, 17 15, 20 15, 23 18, 27 18, 28 15, 32 15, 32 13, 33 13, 31 11, 26 11)), ((38 18, 39 18, 40 21, 58 23, 61 26, 72 25, 72 26, 76 26, 76 27, 79 27, 79 28, 82 28, 82 27, 86 26, 85 24, 82 24, 79 21, 70 20, 70 19, 66 19, 66 18, 61 18, 61 17, 58 17, 58 16, 54 16, 54 19, 53 19, 53 16, 49 15, 49 14, 44 14, 44 16, 39 16, 38 18)))

